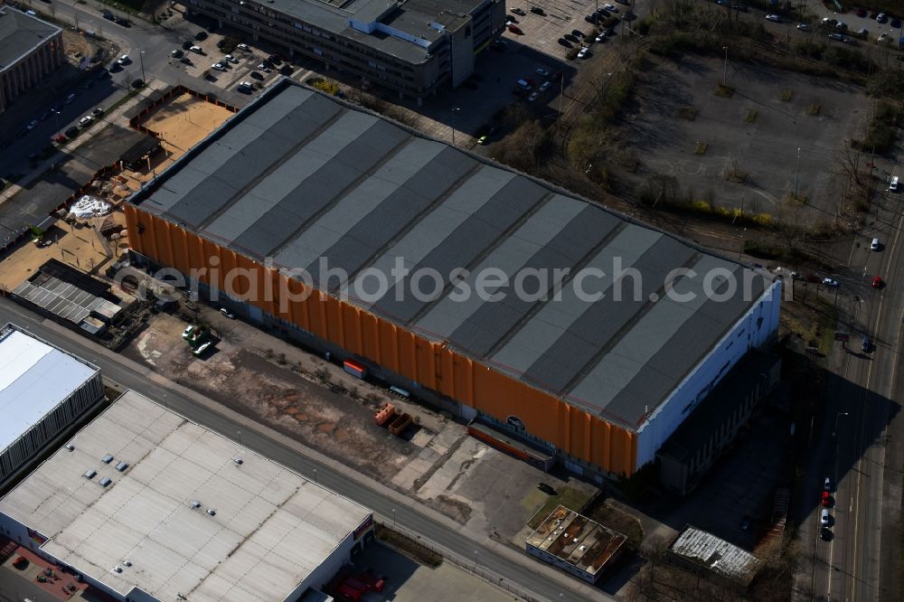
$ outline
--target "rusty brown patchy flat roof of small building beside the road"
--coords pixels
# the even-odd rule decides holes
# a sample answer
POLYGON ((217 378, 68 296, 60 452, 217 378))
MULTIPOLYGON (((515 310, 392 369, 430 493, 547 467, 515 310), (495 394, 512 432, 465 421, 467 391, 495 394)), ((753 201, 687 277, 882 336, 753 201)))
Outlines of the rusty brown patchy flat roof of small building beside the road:
POLYGON ((559 505, 527 538, 527 544, 596 577, 627 540, 588 517, 559 505))

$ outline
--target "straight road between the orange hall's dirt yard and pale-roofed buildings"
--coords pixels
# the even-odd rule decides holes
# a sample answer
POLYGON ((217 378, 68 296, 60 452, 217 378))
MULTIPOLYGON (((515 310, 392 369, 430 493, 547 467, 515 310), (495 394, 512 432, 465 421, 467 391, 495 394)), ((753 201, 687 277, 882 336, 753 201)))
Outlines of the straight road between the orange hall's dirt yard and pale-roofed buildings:
MULTIPOLYGON (((586 595, 576 591, 581 587, 580 584, 578 582, 570 584, 571 579, 566 574, 561 573, 560 579, 551 579, 542 571, 532 571, 530 570, 532 564, 538 561, 532 560, 526 555, 523 559, 519 559, 523 562, 513 560, 506 554, 500 554, 488 548, 482 541, 471 539, 465 533, 452 531, 447 525, 433 520, 418 510, 373 491, 345 475, 342 470, 336 470, 317 462, 298 453, 295 449, 286 447, 278 441, 198 404, 182 395, 179 390, 167 387, 165 385, 167 381, 162 378, 156 381, 148 380, 117 359, 99 353, 99 347, 96 344, 87 339, 81 339, 76 334, 62 335, 43 325, 41 317, 31 314, 5 297, 0 297, 0 324, 7 322, 27 327, 33 334, 93 362, 99 366, 101 372, 108 379, 117 381, 128 389, 136 390, 152 400, 165 402, 169 409, 179 412, 186 418, 226 437, 240 440, 240 445, 249 447, 299 474, 315 479, 317 483, 324 484, 334 491, 362 503, 384 518, 391 517, 390 520, 404 525, 410 531, 419 533, 429 541, 437 542, 447 550, 452 550, 460 558, 476 559, 482 569, 492 571, 540 597, 561 601, 588 599, 586 595)), ((594 597, 599 599, 611 599, 602 592, 594 593, 598 593, 598 596, 594 597)))

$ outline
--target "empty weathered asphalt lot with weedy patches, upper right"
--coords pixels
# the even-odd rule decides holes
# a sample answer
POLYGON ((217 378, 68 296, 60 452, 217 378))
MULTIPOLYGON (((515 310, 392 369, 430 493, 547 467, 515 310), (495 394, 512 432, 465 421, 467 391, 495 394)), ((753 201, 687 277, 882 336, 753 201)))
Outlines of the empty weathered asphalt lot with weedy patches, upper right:
POLYGON ((642 157, 629 177, 644 186, 671 175, 694 201, 772 213, 793 204, 807 219, 833 220, 844 190, 838 157, 863 135, 871 100, 852 84, 730 60, 725 98, 716 94, 724 65, 691 54, 652 62, 626 119, 642 157))

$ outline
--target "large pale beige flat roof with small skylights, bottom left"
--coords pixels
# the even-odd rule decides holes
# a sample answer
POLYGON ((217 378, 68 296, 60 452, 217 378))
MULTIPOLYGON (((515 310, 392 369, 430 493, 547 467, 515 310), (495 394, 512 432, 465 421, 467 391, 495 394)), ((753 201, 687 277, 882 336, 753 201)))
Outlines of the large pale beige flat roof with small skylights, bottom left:
POLYGON ((283 600, 371 516, 132 391, 70 443, 0 500, 0 512, 123 596, 137 587, 160 600, 283 600))

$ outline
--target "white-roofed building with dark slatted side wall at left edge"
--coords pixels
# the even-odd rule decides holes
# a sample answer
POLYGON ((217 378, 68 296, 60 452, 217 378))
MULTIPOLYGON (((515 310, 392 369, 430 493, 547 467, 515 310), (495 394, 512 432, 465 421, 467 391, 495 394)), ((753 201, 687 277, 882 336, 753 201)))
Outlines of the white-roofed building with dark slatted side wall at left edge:
POLYGON ((96 366, 15 325, 0 327, 0 484, 103 395, 96 366))

